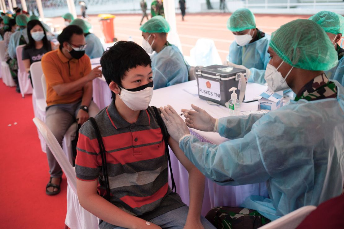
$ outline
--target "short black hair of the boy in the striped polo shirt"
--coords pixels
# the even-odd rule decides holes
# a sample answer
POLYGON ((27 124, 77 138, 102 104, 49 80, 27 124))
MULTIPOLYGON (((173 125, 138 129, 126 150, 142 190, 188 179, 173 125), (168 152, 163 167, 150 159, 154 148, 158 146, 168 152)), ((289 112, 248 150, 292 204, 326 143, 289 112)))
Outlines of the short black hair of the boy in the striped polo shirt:
MULTIPOLYGON (((121 80, 126 71, 137 66, 152 67, 152 61, 140 45, 131 41, 119 41, 103 53, 100 65, 107 84, 114 81, 122 87, 121 80)), ((115 95, 112 92, 113 99, 115 95)))

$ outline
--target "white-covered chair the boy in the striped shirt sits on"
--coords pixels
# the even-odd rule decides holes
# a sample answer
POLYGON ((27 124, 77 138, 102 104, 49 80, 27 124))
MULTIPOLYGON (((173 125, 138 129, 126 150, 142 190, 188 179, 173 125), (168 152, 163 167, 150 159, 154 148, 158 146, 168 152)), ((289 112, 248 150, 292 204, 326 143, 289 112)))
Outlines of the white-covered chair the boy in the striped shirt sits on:
POLYGON ((49 149, 54 154, 58 164, 60 164, 62 170, 67 177, 67 215, 65 224, 69 228, 77 229, 95 229, 98 227, 98 218, 89 211, 80 206, 77 192, 76 192, 76 173, 72 165, 66 158, 60 144, 58 144, 56 138, 50 129, 38 118, 33 118, 37 129, 44 137, 49 149))

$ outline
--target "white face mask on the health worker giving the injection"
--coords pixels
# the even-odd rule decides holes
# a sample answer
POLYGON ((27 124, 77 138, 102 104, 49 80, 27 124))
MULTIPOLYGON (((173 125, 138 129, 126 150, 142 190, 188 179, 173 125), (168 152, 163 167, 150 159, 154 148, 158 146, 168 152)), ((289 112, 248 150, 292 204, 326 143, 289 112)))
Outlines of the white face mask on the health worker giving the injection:
POLYGON ((264 78, 272 92, 284 91, 290 88, 286 82, 286 79, 294 67, 292 67, 287 73, 287 76, 283 78, 281 72, 278 71, 283 62, 284 61, 282 61, 278 68, 275 68, 270 64, 266 66, 264 78))

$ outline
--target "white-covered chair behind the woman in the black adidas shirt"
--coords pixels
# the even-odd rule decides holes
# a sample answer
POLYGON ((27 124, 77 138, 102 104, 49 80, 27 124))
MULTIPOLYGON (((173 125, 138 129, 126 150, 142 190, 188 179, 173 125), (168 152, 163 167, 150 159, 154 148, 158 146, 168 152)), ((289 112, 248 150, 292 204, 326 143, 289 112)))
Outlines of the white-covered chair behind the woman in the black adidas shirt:
POLYGON ((25 45, 19 45, 15 48, 15 52, 17 54, 17 63, 18 63, 18 82, 20 93, 24 98, 26 94, 32 94, 32 86, 29 79, 29 73, 26 72, 24 62, 22 60, 22 52, 25 45))

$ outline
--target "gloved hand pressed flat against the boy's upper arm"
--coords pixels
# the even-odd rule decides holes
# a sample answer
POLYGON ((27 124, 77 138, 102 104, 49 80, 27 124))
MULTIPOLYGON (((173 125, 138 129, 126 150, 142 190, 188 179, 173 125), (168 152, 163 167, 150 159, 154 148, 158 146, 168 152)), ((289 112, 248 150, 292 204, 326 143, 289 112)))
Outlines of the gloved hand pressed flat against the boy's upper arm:
POLYGON ((187 128, 183 119, 177 114, 172 106, 167 105, 164 106, 164 108, 160 107, 160 111, 167 131, 174 140, 179 142, 185 135, 190 135, 189 128, 187 128))

